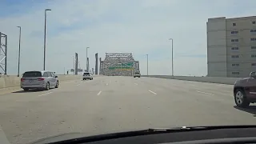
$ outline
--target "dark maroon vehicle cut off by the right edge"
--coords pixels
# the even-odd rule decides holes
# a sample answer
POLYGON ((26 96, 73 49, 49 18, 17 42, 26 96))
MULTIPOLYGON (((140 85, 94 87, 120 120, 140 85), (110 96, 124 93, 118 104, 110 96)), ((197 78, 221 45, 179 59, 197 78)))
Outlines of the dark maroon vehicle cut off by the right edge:
POLYGON ((247 107, 256 102, 256 72, 251 72, 247 78, 234 82, 234 102, 239 107, 247 107))

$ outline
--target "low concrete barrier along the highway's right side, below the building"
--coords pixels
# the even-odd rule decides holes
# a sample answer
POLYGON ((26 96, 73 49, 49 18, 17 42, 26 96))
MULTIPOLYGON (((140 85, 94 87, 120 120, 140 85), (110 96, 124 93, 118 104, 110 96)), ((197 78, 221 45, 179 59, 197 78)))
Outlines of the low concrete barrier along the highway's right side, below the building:
POLYGON ((150 78, 168 78, 168 79, 178 79, 185 81, 195 81, 195 82, 210 82, 210 83, 222 83, 233 85, 235 81, 240 78, 225 78, 225 77, 188 77, 188 76, 170 76, 170 75, 142 75, 142 77, 150 78))

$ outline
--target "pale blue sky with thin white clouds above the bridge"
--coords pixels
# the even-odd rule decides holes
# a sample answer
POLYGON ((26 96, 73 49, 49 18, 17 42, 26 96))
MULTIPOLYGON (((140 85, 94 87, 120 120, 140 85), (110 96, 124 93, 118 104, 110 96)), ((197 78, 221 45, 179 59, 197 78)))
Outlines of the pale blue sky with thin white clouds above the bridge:
MULTIPOLYGON (((21 73, 42 70, 44 10, 46 70, 63 74, 74 67, 74 53, 86 68, 94 54, 132 53, 146 74, 171 74, 174 39, 174 75, 207 74, 206 22, 208 18, 235 18, 256 14, 255 0, 0 0, 0 32, 8 37, 7 74, 18 72, 17 26, 22 26, 21 73)), ((0 53, 1 54, 1 53, 0 53)))

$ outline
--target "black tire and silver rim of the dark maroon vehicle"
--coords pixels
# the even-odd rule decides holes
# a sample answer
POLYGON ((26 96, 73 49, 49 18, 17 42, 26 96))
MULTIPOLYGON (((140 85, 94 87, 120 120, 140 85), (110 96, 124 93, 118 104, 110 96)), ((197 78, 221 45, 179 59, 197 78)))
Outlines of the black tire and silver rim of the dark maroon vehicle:
POLYGON ((239 107, 247 107, 250 105, 250 102, 246 99, 246 93, 242 89, 235 90, 234 102, 239 107))

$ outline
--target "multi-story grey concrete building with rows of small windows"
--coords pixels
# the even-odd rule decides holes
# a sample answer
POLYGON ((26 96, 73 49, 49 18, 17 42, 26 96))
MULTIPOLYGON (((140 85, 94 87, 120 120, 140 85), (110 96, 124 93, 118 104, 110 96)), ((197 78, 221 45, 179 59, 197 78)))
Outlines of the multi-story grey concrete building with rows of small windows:
POLYGON ((208 19, 207 67, 212 77, 247 77, 256 71, 256 16, 208 19))

